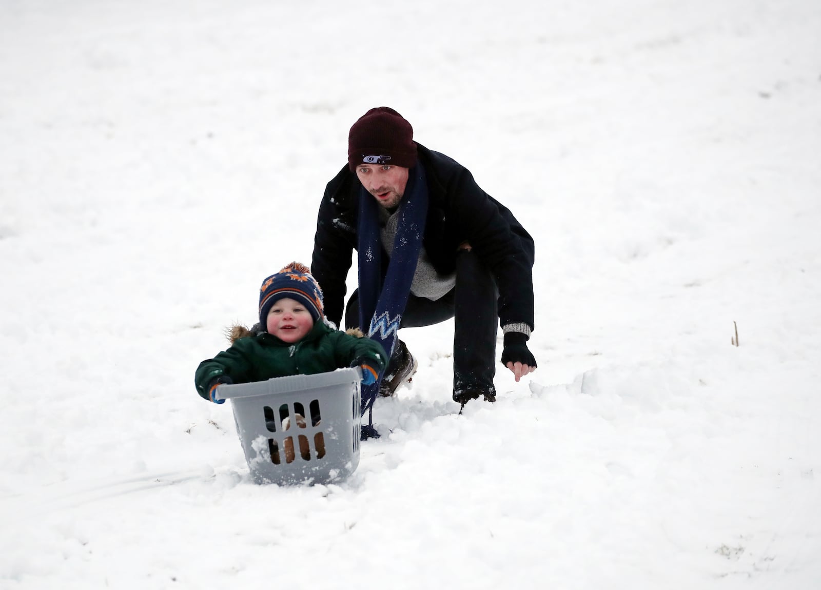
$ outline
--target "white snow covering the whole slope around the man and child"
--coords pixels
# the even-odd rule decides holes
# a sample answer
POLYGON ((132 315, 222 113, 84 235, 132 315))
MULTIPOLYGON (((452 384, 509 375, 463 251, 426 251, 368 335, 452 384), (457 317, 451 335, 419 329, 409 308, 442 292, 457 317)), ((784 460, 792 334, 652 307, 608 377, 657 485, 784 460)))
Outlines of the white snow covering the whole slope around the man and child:
POLYGON ((821 588, 819 30, 810 0, 4 2, 0 587, 821 588), (381 105, 534 234, 539 369, 458 415, 452 324, 403 330, 351 478, 258 486, 194 370, 310 263, 381 105))

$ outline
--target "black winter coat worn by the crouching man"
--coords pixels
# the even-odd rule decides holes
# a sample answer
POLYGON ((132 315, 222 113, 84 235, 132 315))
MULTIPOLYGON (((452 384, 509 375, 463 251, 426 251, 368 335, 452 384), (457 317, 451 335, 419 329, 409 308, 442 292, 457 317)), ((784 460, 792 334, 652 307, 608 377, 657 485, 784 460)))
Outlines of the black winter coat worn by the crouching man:
MULTIPOLYGON (((496 279, 502 326, 524 322, 533 329, 533 238, 509 209, 476 184, 466 167, 416 145, 428 182, 423 244, 433 268, 441 274, 454 272, 456 249, 470 243, 496 279)), ((319 205, 311 274, 322 287, 326 317, 337 325, 345 309, 346 277, 357 246, 360 187, 346 166, 328 182, 319 205)), ((387 261, 388 255, 382 259, 387 261)))

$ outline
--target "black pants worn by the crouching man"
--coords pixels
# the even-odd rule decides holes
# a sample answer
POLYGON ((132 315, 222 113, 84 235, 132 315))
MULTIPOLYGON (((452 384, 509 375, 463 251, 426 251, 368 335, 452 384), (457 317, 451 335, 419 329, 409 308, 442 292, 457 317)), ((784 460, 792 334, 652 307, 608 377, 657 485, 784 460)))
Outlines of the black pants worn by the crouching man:
MULTIPOLYGON (((493 275, 470 250, 456 254, 456 286, 446 295, 435 301, 413 294, 408 297, 400 328, 431 326, 453 318, 455 394, 469 389, 496 392, 497 299, 493 275)), ((345 326, 359 327, 359 290, 353 292, 346 305, 345 326)), ((395 362, 391 359, 391 364, 395 362)))

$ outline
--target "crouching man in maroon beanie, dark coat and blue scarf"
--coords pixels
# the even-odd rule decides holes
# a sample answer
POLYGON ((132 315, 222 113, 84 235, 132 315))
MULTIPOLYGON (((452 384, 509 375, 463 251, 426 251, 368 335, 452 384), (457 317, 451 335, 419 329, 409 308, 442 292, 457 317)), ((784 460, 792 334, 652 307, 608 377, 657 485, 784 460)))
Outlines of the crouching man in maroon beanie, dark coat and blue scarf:
POLYGON ((517 382, 535 370, 526 344, 534 327, 533 239, 465 167, 416 143, 392 108, 372 108, 351 127, 348 164, 319 206, 311 272, 337 325, 354 249, 359 289, 345 322, 391 354, 380 395, 392 396, 416 370, 398 328, 449 318, 453 400, 462 407, 479 396, 496 400, 499 320, 502 364, 517 382))

